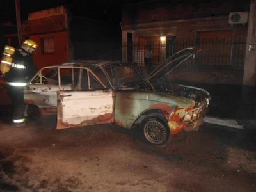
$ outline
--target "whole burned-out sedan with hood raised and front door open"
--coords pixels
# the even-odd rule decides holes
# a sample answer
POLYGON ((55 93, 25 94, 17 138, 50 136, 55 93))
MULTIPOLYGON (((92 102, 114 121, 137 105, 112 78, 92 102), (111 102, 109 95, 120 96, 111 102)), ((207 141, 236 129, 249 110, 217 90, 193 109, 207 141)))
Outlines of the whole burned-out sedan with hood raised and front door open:
POLYGON ((140 129, 143 140, 168 144, 172 134, 197 130, 209 93, 170 83, 168 75, 193 58, 183 49, 143 77, 136 63, 72 61, 42 68, 26 86, 24 102, 57 115, 57 129, 115 123, 140 129))

